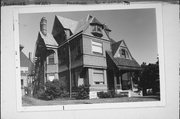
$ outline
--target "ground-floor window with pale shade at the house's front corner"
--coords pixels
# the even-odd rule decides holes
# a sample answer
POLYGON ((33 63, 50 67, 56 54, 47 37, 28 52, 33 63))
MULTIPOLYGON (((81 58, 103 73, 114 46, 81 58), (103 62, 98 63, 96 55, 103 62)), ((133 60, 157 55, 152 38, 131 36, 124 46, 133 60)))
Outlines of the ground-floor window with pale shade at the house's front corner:
POLYGON ((93 82, 94 84, 104 84, 104 71, 103 70, 94 69, 93 82))

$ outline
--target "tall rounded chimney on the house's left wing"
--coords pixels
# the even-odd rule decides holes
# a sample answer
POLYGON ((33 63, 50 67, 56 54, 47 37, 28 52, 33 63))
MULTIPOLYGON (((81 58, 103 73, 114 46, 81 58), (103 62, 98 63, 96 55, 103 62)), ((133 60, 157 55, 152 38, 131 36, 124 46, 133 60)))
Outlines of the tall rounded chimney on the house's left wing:
POLYGON ((40 21, 40 31, 41 33, 46 36, 47 35, 47 20, 46 17, 42 17, 40 21))

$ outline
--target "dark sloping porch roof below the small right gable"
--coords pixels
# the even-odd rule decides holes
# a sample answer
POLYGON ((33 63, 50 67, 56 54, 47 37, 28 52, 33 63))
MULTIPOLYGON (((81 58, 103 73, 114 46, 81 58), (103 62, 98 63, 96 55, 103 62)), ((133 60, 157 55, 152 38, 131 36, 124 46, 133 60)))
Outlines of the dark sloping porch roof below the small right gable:
POLYGON ((133 59, 125 59, 119 57, 113 57, 113 54, 110 51, 107 51, 107 55, 111 58, 114 64, 119 69, 127 69, 127 70, 140 70, 140 65, 133 59))

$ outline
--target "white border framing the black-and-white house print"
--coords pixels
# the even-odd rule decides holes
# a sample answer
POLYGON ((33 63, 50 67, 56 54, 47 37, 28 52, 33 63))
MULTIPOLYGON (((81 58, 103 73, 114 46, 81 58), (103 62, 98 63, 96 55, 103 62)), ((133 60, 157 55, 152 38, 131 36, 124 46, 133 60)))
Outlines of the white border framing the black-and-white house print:
POLYGON ((17 6, 14 8, 14 40, 15 40, 15 62, 16 62, 16 90, 17 90, 17 111, 53 111, 53 110, 82 110, 82 109, 109 109, 109 108, 139 108, 165 106, 165 63, 164 63, 164 42, 163 42, 163 19, 162 3, 132 3, 124 4, 94 4, 94 5, 29 5, 17 6), (91 10, 123 10, 123 9, 147 9, 154 8, 156 13, 157 46, 159 54, 160 74, 160 101, 145 102, 121 102, 101 104, 71 104, 71 105, 49 105, 49 106, 22 106, 21 84, 20 84, 20 52, 19 52, 19 15, 28 13, 52 13, 70 11, 91 11, 91 10))

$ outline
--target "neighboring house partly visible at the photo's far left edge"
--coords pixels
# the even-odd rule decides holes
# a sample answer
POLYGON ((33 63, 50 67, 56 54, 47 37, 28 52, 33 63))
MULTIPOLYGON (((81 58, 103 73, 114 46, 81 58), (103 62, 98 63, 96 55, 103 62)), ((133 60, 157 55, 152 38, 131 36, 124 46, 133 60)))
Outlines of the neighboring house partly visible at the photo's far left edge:
POLYGON ((20 71, 21 71, 21 89, 22 95, 27 94, 26 87, 32 84, 33 76, 32 76, 32 68, 33 63, 31 62, 31 54, 29 54, 29 58, 23 53, 22 49, 24 47, 20 45, 20 71))

